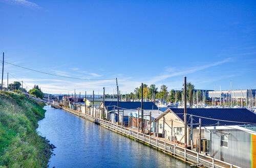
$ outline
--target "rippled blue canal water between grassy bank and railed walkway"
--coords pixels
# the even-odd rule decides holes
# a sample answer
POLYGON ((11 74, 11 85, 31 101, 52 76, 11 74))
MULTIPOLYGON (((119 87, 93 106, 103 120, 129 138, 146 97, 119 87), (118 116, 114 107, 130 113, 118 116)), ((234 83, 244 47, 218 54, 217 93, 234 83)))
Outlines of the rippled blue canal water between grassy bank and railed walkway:
POLYGON ((37 131, 56 146, 50 167, 190 167, 65 110, 44 108, 37 131))

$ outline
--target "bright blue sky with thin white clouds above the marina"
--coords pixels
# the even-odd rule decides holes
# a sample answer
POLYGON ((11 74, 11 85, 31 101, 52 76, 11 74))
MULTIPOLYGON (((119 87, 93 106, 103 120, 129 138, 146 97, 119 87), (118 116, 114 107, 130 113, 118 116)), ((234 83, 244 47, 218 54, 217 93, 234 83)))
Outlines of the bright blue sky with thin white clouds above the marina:
MULTIPOLYGON (((6 62, 39 71, 117 77, 123 94, 141 82, 181 89, 183 76, 196 89, 229 89, 230 81, 233 89, 256 88, 255 6, 255 1, 0 0, 0 51, 6 62)), ((54 77, 11 65, 5 72, 10 82, 16 77, 50 93, 102 93, 103 87, 115 92, 114 80, 54 77)))

